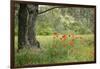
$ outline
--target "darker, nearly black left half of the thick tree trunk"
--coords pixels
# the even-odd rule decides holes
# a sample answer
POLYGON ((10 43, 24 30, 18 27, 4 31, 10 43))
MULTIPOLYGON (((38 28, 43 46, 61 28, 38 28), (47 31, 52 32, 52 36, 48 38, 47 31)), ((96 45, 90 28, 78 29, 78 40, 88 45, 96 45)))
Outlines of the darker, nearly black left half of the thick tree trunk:
POLYGON ((18 49, 21 49, 26 44, 25 34, 26 34, 26 22, 27 22, 27 8, 26 4, 20 4, 19 14, 18 14, 18 49))

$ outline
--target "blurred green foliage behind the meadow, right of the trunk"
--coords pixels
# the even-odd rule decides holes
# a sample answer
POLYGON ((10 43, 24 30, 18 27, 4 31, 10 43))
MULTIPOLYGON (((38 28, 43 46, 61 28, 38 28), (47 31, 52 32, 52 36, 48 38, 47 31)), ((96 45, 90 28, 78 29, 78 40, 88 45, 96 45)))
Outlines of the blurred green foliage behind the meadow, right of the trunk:
MULTIPOLYGON (((40 11, 45 11, 53 6, 41 6, 40 11)), ((55 8, 38 16, 36 22, 37 35, 43 34, 51 28, 51 32, 77 34, 91 34, 94 27, 94 9, 93 8, 55 8), (42 25, 48 26, 42 26, 42 25), (37 28, 38 27, 38 28, 37 28), (42 30, 43 29, 43 30, 42 30), (44 30, 47 29, 47 30, 44 30), (40 31, 42 30, 42 32, 40 31), (39 33, 40 32, 40 33, 39 33)))

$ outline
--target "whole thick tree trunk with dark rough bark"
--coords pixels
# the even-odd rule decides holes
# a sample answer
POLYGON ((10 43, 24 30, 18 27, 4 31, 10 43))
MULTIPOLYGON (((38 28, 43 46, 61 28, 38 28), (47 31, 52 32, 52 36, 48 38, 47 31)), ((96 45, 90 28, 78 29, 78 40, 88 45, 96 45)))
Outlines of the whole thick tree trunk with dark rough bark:
POLYGON ((23 47, 40 47, 35 33, 37 15, 38 5, 20 4, 18 15, 18 49, 23 47))

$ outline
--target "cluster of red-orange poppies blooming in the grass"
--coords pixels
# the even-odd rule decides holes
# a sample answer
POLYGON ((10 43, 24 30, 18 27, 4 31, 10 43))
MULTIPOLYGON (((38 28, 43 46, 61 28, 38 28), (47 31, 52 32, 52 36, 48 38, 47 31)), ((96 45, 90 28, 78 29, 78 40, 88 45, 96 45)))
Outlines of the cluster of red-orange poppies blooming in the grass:
MULTIPOLYGON (((63 46, 64 46, 64 48, 67 47, 67 45, 69 45, 69 46, 75 46, 74 40, 77 39, 77 38, 82 39, 82 37, 80 37, 79 35, 74 35, 74 33, 70 33, 69 35, 67 35, 67 34, 60 35, 57 32, 53 33, 53 38, 54 39, 55 38, 60 39, 61 42, 62 42, 62 44, 63 44, 63 46), (67 40, 69 38, 71 38, 71 39, 67 40)), ((55 45, 54 45, 54 48, 55 48, 55 45)))

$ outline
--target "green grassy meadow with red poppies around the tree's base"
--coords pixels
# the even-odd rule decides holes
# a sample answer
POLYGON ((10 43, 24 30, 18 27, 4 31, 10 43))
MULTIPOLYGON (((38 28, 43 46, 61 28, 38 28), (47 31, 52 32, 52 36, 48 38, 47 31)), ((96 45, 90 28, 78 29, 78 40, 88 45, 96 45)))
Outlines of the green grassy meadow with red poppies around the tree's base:
MULTIPOLYGON (((94 61, 94 36, 74 35, 74 37, 71 35, 37 36, 41 48, 24 48, 20 52, 15 52, 15 65, 94 61), (62 40, 61 37, 66 39, 62 40)), ((17 45, 16 36, 15 51, 17 45)))

